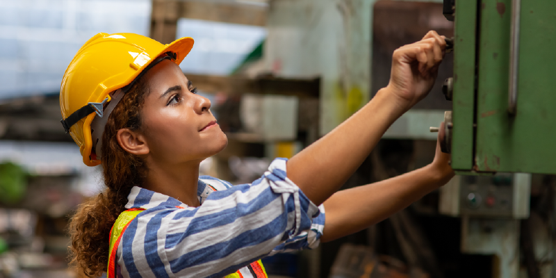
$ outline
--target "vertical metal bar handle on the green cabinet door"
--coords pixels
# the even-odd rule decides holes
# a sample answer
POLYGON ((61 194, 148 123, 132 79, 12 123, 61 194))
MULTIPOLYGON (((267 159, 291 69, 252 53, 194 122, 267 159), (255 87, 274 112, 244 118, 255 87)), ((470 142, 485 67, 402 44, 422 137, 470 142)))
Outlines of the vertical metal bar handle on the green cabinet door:
POLYGON ((512 23, 510 27, 509 46, 509 87, 508 87, 508 113, 516 115, 517 112, 517 85, 519 71, 519 23, 521 13, 521 0, 512 0, 512 23))

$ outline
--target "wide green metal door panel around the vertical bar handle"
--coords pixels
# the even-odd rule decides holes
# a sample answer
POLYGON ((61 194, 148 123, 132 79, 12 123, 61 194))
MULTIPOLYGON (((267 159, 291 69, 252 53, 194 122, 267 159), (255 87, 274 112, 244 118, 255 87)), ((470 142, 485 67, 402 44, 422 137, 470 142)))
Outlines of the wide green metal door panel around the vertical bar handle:
POLYGON ((507 113, 511 7, 481 3, 475 169, 555 174, 556 1, 521 1, 515 116, 507 113))

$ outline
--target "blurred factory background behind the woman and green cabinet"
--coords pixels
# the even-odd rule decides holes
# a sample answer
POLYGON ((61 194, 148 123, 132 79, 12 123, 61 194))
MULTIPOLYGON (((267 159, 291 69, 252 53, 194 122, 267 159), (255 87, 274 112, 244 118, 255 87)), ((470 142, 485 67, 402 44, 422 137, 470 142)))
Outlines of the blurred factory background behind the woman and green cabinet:
MULTIPOLYGON (((361 108, 388 83, 394 49, 429 30, 454 35, 443 0, 0 0, 0 277, 81 277, 67 268, 65 227, 103 183, 64 133, 58 93, 92 35, 195 39, 181 68, 229 138, 201 172, 238 184, 361 108)), ((343 188, 432 161, 429 127, 452 109, 450 55, 343 188)), ((541 174, 457 176, 365 231, 264 263, 271 277, 556 277, 555 186, 541 174)))

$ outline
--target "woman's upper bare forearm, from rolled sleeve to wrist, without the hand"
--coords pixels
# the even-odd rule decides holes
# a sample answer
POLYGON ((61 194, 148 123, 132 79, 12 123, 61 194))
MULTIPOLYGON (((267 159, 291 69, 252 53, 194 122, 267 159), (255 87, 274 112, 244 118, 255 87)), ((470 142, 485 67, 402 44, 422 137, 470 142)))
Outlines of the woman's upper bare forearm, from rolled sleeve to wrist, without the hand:
POLYGON ((338 190, 407 106, 382 89, 366 106, 288 161, 288 178, 314 204, 338 190))

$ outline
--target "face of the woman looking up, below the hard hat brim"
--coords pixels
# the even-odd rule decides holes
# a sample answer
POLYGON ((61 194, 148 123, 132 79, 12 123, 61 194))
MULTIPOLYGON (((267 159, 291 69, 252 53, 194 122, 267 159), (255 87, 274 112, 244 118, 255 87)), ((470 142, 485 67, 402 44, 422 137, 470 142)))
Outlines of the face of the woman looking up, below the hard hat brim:
POLYGON ((149 156, 164 163, 202 161, 226 147, 226 135, 211 113, 211 101, 170 60, 145 74, 149 94, 141 110, 142 137, 149 156))

